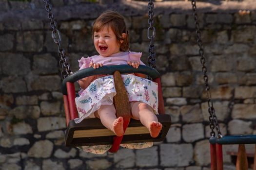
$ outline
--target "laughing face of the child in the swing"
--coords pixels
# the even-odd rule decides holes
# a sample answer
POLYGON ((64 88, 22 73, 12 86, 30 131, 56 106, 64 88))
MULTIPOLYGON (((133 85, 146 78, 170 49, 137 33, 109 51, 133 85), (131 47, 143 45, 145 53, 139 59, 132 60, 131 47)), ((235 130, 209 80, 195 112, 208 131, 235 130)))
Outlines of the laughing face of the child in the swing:
POLYGON ((118 41, 111 28, 104 27, 99 32, 94 32, 93 37, 95 49, 101 56, 108 57, 120 51, 121 41, 118 41))

